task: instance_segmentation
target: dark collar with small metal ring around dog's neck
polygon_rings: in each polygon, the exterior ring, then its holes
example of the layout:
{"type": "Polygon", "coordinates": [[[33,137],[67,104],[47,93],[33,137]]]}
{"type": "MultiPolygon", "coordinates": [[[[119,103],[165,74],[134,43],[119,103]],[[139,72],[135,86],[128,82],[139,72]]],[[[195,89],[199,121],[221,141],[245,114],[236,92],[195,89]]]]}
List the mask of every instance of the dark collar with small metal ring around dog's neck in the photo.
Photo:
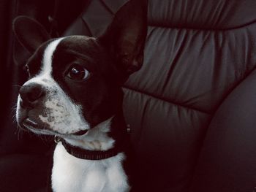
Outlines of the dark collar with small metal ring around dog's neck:
{"type": "Polygon", "coordinates": [[[75,156],[76,158],[82,158],[87,160],[102,160],[105,158],[110,158],[121,152],[120,147],[113,147],[110,150],[86,150],[80,147],[75,147],[67,143],[64,139],[55,136],[55,142],[61,142],[67,153],[75,156]]]}

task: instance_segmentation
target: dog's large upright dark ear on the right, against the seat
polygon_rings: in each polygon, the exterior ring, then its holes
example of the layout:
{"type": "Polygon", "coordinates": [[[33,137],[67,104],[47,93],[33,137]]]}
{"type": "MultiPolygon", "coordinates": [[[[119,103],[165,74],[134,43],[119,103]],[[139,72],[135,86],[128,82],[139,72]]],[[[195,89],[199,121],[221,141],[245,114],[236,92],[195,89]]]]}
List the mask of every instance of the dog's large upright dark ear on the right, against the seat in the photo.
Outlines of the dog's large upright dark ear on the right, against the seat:
{"type": "Polygon", "coordinates": [[[143,64],[147,34],[147,0],[130,0],[118,10],[99,42],[110,50],[124,76],[138,71],[143,64]]]}

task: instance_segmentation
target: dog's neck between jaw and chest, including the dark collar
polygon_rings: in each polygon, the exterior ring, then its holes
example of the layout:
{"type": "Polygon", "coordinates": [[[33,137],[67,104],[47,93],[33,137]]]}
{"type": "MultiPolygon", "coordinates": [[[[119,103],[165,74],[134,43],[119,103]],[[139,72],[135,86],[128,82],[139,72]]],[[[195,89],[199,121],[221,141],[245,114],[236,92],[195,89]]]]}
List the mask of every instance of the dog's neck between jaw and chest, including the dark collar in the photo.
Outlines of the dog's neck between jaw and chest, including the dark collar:
{"type": "Polygon", "coordinates": [[[127,130],[122,115],[115,115],[91,128],[85,135],[60,139],[67,152],[77,158],[104,159],[117,155],[127,143],[127,130]]]}

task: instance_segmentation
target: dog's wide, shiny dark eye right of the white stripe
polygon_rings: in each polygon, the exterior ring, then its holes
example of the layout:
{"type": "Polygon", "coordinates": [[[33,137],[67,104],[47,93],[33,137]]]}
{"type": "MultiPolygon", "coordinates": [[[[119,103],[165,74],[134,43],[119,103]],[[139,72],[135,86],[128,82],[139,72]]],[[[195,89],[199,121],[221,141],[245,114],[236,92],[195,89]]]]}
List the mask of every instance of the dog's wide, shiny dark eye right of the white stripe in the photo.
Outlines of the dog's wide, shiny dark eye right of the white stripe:
{"type": "Polygon", "coordinates": [[[67,77],[72,80],[86,80],[89,77],[89,74],[89,71],[87,71],[83,66],[74,64],[69,68],[67,77]]]}

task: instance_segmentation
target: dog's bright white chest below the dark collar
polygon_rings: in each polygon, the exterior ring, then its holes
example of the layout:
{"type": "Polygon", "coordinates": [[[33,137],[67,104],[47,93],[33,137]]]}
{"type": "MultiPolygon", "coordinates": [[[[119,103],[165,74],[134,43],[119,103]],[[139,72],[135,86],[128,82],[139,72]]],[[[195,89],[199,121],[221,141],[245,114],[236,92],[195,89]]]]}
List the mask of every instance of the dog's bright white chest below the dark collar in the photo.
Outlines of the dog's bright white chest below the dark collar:
{"type": "Polygon", "coordinates": [[[79,159],[69,155],[59,143],[53,155],[53,191],[129,191],[127,175],[121,163],[124,158],[124,153],[118,153],[99,161],[79,159]]]}

